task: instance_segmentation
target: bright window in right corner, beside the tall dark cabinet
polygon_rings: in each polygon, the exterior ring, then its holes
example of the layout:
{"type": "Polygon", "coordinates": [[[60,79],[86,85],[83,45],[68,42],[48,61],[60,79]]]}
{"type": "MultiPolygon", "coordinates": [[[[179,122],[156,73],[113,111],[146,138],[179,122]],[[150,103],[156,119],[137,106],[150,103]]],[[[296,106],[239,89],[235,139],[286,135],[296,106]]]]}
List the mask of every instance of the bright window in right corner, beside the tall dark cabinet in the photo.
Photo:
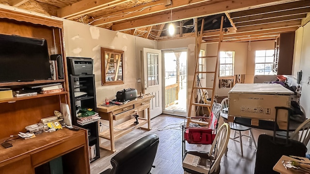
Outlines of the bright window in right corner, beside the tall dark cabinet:
{"type": "Polygon", "coordinates": [[[255,52],[255,75],[272,75],[274,50],[258,50],[255,52]]]}

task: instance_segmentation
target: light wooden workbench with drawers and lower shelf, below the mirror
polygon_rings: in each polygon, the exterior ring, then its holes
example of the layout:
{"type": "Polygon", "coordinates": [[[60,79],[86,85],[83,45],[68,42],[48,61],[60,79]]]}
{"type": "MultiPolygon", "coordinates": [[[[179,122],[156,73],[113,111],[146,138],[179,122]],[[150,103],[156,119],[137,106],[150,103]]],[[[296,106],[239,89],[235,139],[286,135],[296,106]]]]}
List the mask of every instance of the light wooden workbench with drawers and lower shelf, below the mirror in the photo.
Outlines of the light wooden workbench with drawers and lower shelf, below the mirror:
{"type": "Polygon", "coordinates": [[[104,138],[110,141],[110,146],[103,146],[99,141],[99,146],[102,149],[108,150],[110,152],[115,152],[115,139],[125,135],[126,133],[141,128],[144,130],[151,130],[151,117],[150,117],[150,100],[154,98],[154,95],[144,95],[142,98],[138,97],[138,100],[133,100],[127,102],[123,105],[97,105],[97,111],[101,119],[109,120],[109,130],[103,131],[99,133],[100,138],[104,138]],[[147,110],[147,118],[146,118],[146,110],[147,110]],[[134,114],[143,111],[144,117],[139,116],[138,121],[139,124],[136,125],[134,122],[136,118],[131,118],[124,123],[121,123],[114,127],[113,120],[119,120],[121,118],[125,118],[128,116],[132,116],[134,114]],[[141,126],[147,123],[147,128],[142,128],[141,126]]]}

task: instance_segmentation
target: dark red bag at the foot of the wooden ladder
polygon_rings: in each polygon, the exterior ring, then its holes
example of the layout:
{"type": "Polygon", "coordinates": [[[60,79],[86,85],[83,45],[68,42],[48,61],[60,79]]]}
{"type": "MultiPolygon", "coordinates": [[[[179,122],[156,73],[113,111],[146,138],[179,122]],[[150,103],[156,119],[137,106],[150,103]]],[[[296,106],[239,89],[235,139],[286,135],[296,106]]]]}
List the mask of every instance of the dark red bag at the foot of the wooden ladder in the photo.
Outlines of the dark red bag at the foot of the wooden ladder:
{"type": "Polygon", "coordinates": [[[212,129],[205,128],[187,128],[184,138],[189,144],[211,145],[216,136],[212,131],[212,129]]]}

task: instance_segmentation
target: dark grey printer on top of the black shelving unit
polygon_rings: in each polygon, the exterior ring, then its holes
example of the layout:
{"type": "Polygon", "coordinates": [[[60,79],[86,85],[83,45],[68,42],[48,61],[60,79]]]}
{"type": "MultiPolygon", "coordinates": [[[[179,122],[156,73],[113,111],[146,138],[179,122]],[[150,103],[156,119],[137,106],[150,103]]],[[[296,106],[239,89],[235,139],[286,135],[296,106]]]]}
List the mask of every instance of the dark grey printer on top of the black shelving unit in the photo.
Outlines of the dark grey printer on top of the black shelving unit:
{"type": "Polygon", "coordinates": [[[72,75],[93,74],[92,58],[67,57],[68,73],[72,75]]]}

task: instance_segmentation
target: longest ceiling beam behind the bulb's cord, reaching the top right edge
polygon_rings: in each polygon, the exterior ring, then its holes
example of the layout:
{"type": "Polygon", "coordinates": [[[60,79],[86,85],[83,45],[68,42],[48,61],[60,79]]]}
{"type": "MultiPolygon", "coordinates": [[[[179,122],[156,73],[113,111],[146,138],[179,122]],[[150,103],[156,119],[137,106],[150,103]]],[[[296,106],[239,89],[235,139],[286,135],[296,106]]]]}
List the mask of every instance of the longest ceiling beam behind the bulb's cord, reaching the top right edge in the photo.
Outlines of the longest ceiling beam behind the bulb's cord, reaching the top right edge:
{"type": "Polygon", "coordinates": [[[143,19],[132,20],[112,25],[112,30],[122,31],[134,29],[142,26],[158,25],[172,21],[191,19],[224,12],[234,12],[249,8],[258,8],[293,0],[225,0],[213,4],[202,5],[199,7],[187,8],[186,10],[172,12],[172,19],[169,14],[160,14],[143,19]]]}

